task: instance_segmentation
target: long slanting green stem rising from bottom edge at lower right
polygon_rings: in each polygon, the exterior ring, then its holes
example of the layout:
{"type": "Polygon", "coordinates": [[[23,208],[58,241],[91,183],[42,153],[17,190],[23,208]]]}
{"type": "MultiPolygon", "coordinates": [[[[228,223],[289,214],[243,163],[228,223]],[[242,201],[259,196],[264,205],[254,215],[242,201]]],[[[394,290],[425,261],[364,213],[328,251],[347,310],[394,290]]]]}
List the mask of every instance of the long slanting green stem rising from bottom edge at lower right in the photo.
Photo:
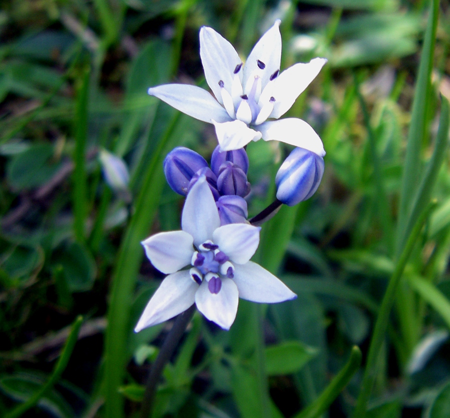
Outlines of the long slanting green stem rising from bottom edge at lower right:
{"type": "Polygon", "coordinates": [[[415,223],[411,234],[406,241],[406,245],[401,252],[398,262],[395,265],[392,276],[389,279],[389,284],[387,285],[386,292],[384,293],[383,299],[381,301],[381,306],[378,311],[378,317],[376,318],[372,339],[370,340],[367,363],[361,383],[361,390],[359,392],[356,407],[352,415],[354,418],[364,418],[365,416],[366,405],[373,386],[373,382],[375,381],[379,353],[381,351],[381,345],[384,341],[384,334],[389,323],[390,309],[395,300],[398,283],[400,282],[404,267],[409,258],[409,255],[411,254],[412,248],[414,247],[422,225],[425,222],[425,219],[427,218],[432,207],[432,204],[428,205],[426,210],[424,210],[417,219],[417,222],[415,223]]]}

